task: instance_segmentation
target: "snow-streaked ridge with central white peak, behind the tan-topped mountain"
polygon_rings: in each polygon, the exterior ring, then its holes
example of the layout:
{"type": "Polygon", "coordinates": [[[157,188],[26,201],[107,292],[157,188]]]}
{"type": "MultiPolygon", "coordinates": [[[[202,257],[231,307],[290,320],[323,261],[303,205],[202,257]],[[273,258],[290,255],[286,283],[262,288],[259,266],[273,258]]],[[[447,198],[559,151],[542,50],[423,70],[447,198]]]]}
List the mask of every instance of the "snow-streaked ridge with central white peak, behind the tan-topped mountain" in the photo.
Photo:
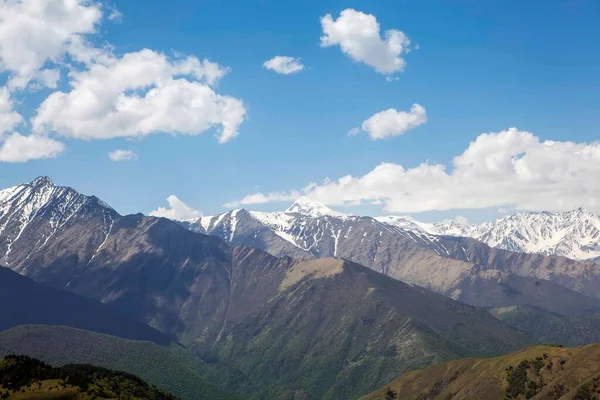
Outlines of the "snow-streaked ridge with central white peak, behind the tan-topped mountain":
{"type": "MultiPolygon", "coordinates": [[[[532,288],[537,280],[549,280],[600,296],[600,266],[595,263],[492,248],[471,238],[433,235],[421,228],[392,225],[389,220],[340,214],[305,199],[284,212],[233,210],[181,224],[277,256],[343,257],[474,305],[490,305],[492,299],[486,299],[485,292],[478,291],[478,296],[469,292],[473,280],[513,279],[507,274],[521,276],[532,288]]],[[[504,300],[498,305],[506,304],[504,300]]]]}

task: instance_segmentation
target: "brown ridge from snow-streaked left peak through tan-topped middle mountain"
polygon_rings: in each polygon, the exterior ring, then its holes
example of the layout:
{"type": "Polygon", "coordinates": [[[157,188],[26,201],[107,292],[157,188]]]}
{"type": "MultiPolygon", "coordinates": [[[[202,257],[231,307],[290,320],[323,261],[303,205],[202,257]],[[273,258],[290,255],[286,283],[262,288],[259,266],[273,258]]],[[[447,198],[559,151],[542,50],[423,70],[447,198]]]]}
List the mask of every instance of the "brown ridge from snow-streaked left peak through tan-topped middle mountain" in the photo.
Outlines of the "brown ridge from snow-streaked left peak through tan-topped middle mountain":
{"type": "MultiPolygon", "coordinates": [[[[0,238],[8,267],[118,307],[281,396],[352,398],[410,368],[525,343],[485,311],[354,263],[232,247],[164,218],[121,216],[48,179],[2,193],[0,238]],[[341,370],[333,373],[331,363],[341,370]],[[310,380],[293,373],[301,370],[310,371],[310,380]],[[355,379],[360,376],[371,379],[355,379]]],[[[239,217],[228,217],[232,241],[241,233],[239,217]]],[[[334,226],[329,216],[316,218],[322,229],[334,226]]],[[[379,224],[360,223],[364,229],[379,224]]],[[[342,236],[326,243],[315,249],[341,255],[342,236]]]]}

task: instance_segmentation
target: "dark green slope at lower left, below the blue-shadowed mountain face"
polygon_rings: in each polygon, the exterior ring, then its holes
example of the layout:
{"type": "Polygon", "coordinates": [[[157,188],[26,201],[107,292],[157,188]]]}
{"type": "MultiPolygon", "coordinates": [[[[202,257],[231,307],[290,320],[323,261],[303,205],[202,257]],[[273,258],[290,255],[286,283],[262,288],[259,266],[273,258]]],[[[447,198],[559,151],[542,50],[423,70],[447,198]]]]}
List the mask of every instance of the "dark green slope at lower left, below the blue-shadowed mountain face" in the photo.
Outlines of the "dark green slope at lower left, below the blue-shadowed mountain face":
{"type": "MultiPolygon", "coordinates": [[[[158,346],[68,327],[25,325],[0,333],[0,356],[26,354],[53,365],[126,371],[182,399],[235,399],[207,381],[211,367],[176,345],[158,346]]],[[[227,382],[223,382],[227,384],[227,382]]]]}

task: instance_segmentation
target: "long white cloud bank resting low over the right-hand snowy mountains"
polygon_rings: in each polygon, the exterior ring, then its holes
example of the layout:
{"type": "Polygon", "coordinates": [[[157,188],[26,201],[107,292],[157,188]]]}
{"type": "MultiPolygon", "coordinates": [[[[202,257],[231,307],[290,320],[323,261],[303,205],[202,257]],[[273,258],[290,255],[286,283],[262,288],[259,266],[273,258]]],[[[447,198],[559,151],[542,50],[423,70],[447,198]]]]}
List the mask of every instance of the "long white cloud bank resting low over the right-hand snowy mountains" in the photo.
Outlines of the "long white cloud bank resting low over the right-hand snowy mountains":
{"type": "MultiPolygon", "coordinates": [[[[380,200],[391,213],[502,207],[600,212],[600,142],[542,141],[516,128],[481,134],[448,168],[382,163],[359,177],[310,184],[301,193],[327,205],[380,200]]],[[[264,203],[294,192],[255,193],[264,203]]]]}

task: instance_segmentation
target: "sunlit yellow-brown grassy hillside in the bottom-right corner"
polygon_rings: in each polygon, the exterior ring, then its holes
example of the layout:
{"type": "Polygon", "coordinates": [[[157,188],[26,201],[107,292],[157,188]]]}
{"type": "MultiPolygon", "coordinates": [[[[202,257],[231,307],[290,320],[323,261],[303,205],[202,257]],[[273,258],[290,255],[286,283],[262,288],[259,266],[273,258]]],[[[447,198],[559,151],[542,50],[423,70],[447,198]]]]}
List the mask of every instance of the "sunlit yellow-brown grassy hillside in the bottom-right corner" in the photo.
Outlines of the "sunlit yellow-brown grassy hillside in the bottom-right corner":
{"type": "Polygon", "coordinates": [[[408,372],[364,399],[524,399],[532,390],[528,396],[536,399],[591,400],[598,398],[593,395],[598,395],[599,380],[600,344],[535,346],[506,356],[408,372]],[[522,379],[517,379],[518,372],[522,379]]]}

